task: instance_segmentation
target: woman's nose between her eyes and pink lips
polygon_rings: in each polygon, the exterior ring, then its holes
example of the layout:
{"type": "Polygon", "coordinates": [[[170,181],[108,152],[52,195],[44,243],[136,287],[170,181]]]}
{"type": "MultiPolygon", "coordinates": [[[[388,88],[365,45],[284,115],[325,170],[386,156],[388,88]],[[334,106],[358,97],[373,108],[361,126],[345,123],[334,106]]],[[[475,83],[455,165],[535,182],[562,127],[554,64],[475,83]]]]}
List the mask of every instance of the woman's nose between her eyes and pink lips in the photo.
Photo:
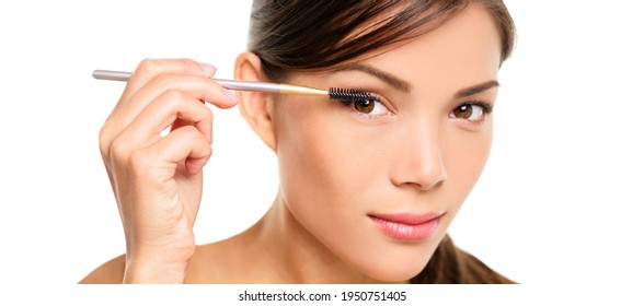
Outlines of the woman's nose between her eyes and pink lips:
{"type": "Polygon", "coordinates": [[[429,129],[425,121],[407,129],[399,139],[399,152],[391,169],[391,180],[395,186],[429,190],[447,179],[438,130],[429,129]]]}

